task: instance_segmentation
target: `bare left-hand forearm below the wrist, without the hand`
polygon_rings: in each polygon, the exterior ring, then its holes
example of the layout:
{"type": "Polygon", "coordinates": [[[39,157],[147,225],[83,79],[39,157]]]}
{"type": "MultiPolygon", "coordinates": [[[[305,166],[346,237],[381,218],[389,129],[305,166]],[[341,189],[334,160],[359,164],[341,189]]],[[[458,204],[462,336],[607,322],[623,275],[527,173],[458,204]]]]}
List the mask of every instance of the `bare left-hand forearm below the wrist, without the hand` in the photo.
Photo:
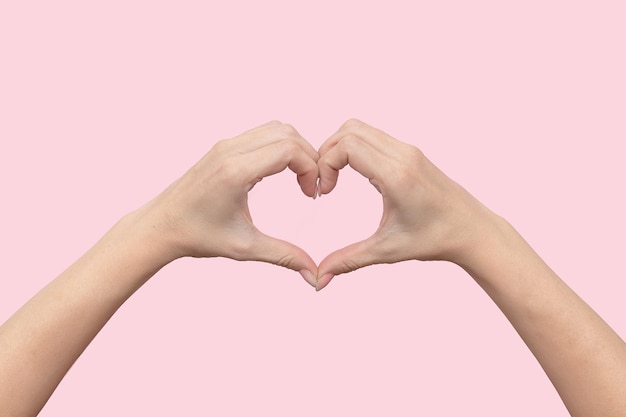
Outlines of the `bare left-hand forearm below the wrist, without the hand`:
{"type": "Polygon", "coordinates": [[[111,318],[167,257],[141,211],[96,245],[0,327],[0,415],[34,416],[111,318]]]}

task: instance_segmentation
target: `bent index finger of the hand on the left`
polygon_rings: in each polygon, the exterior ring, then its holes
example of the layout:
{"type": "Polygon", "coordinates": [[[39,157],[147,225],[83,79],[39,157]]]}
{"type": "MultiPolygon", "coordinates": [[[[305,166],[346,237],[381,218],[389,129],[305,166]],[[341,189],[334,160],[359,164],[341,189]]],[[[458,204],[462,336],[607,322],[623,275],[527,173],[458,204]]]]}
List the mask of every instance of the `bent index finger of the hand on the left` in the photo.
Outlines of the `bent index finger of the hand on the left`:
{"type": "Polygon", "coordinates": [[[318,178],[317,160],[306,153],[295,141],[270,143],[255,152],[243,155],[242,170],[247,171],[250,186],[261,179],[289,167],[297,176],[302,192],[315,196],[318,178]]]}

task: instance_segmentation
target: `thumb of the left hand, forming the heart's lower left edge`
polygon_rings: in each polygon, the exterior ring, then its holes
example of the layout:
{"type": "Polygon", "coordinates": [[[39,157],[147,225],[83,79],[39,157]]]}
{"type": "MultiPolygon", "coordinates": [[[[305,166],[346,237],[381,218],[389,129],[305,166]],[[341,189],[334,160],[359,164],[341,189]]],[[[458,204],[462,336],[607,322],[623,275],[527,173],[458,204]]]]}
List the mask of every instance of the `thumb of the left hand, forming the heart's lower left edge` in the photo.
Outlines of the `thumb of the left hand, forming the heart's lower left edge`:
{"type": "Polygon", "coordinates": [[[315,261],[298,246],[257,232],[252,247],[247,253],[247,260],[268,262],[297,271],[302,277],[316,286],[317,265],[315,261]]]}

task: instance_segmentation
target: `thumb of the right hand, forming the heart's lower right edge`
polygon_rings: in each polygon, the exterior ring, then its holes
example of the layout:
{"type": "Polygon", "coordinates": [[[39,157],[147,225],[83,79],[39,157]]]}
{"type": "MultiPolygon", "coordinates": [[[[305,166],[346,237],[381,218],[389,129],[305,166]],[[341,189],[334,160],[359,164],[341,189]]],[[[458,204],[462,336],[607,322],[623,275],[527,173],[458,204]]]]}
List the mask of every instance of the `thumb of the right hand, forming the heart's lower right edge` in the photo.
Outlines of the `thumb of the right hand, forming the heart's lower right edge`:
{"type": "Polygon", "coordinates": [[[317,285],[320,291],[335,275],[355,271],[364,266],[384,263],[384,253],[377,235],[339,249],[328,255],[317,269],[317,285]]]}

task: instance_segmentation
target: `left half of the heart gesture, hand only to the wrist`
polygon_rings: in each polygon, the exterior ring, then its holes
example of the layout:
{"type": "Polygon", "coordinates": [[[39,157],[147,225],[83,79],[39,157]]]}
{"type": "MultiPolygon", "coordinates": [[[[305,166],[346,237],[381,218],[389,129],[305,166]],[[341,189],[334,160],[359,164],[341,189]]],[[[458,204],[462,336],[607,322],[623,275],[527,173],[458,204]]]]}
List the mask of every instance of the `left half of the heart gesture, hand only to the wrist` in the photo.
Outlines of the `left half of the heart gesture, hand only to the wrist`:
{"type": "Polygon", "coordinates": [[[291,126],[270,122],[217,143],[185,175],[148,204],[169,236],[172,260],[222,256],[299,271],[316,285],[317,266],[299,247],[260,232],[248,192],[289,167],[305,195],[316,196],[318,153],[291,126]]]}

